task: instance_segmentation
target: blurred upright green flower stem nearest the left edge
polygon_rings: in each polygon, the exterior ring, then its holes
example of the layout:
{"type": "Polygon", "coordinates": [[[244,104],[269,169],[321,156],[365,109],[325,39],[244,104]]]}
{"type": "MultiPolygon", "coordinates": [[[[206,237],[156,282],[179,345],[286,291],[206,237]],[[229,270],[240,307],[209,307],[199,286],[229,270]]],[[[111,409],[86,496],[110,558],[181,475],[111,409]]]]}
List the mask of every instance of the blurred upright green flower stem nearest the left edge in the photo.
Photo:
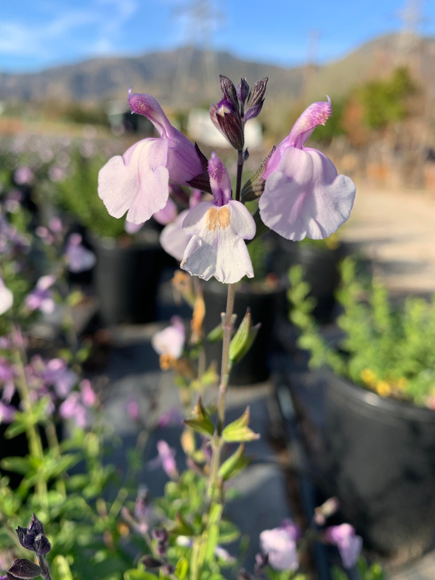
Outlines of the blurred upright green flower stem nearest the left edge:
{"type": "MultiPolygon", "coordinates": [[[[13,350],[13,359],[17,369],[18,376],[16,378],[16,387],[20,395],[21,405],[23,405],[23,411],[27,415],[31,415],[32,402],[28,390],[26,373],[24,372],[23,356],[19,348],[15,348],[13,350]]],[[[37,429],[35,429],[35,425],[33,425],[32,423],[28,423],[27,425],[26,436],[30,455],[33,456],[35,459],[38,459],[38,461],[42,461],[44,459],[44,451],[42,449],[41,437],[39,436],[37,429]]],[[[37,482],[37,491],[41,504],[47,507],[48,506],[47,484],[46,481],[44,481],[43,477],[41,477],[41,479],[37,482]]]]}

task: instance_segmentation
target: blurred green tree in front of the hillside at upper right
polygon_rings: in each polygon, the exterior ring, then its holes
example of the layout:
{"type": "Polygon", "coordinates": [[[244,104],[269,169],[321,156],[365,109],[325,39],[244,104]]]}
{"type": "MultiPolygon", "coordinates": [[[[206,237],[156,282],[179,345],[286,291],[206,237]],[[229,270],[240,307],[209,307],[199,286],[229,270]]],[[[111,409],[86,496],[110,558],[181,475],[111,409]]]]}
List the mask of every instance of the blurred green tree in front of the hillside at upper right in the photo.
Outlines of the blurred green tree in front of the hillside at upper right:
{"type": "Polygon", "coordinates": [[[408,114],[406,100],[414,92],[414,83],[405,67],[396,68],[389,79],[368,82],[359,93],[365,124],[370,129],[382,129],[403,121],[408,114]]]}

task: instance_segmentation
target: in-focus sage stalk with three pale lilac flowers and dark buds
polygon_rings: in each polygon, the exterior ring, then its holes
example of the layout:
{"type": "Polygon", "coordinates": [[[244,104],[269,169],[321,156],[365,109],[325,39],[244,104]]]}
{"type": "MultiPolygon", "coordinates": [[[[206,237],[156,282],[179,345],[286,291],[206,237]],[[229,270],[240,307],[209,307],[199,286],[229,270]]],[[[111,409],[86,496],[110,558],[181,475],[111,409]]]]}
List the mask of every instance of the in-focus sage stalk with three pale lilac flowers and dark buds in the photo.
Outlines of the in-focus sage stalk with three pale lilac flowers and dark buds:
{"type": "MultiPolygon", "coordinates": [[[[257,117],[262,110],[266,86],[267,78],[256,82],[251,89],[246,79],[241,79],[235,88],[229,78],[221,75],[222,99],[210,108],[213,124],[237,151],[234,192],[227,169],[216,153],[213,152],[207,160],[196,143],[191,144],[171,125],[154,97],[132,94],[131,91],[129,104],[132,112],[150,119],[160,137],[144,139],[130,147],[122,157],[111,158],[99,174],[98,193],[110,215],[121,218],[127,212],[127,222],[139,225],[159,212],[172,214],[161,234],[162,246],[191,276],[203,280],[215,277],[228,285],[226,311],[222,313],[222,323],[216,331],[223,340],[216,420],[213,423],[200,398],[192,418],[185,421],[187,426],[205,437],[204,449],[211,452],[200,528],[194,531],[180,516],[172,528],[172,533],[179,538],[192,538],[188,540],[191,580],[201,576],[206,554],[214,553],[210,546],[213,546],[216,534],[219,536],[224,481],[247,465],[244,445],[258,438],[249,429],[249,408],[239,419],[225,425],[225,397],[231,366],[248,351],[258,330],[252,325],[248,311],[233,336],[235,284],[244,276],[254,276],[247,242],[268,229],[288,240],[302,240],[306,236],[315,240],[328,237],[349,218],[356,193],[353,182],[349,177],[338,175],[332,161],[320,151],[305,146],[316,126],[324,124],[331,115],[329,99],[311,104],[302,113],[288,137],[273,148],[255,175],[242,187],[243,165],[248,157],[245,122],[257,117]],[[178,186],[194,189],[189,209],[178,216],[173,212],[169,197],[173,187],[169,180],[178,186]],[[212,198],[203,199],[201,192],[211,193],[212,198]],[[253,215],[245,206],[247,201],[258,201],[258,209],[253,215]],[[222,449],[226,443],[238,443],[239,447],[222,462],[222,449]]],[[[172,197],[176,199],[174,195],[172,197]]],[[[177,277],[180,278],[179,274],[177,277]]],[[[187,287],[185,284],[184,288],[187,287]]],[[[195,288],[197,300],[198,296],[202,299],[200,289],[195,288]]],[[[197,309],[194,299],[190,302],[192,305],[195,303],[194,330],[195,317],[201,322],[204,318],[204,301],[202,310],[197,309]]],[[[203,363],[202,371],[198,368],[195,372],[190,365],[184,364],[184,340],[184,329],[179,320],[173,320],[171,327],[155,336],[154,348],[161,356],[161,366],[175,369],[184,374],[185,379],[190,375],[190,380],[201,382],[206,367],[203,363]]],[[[160,456],[167,447],[163,449],[163,443],[160,442],[160,456]]],[[[165,457],[173,462],[169,451],[165,457]]],[[[160,457],[160,461],[164,459],[160,457]]],[[[266,565],[267,557],[271,562],[285,561],[288,568],[294,569],[297,565],[293,549],[297,539],[295,529],[291,528],[290,534],[289,526],[284,523],[277,530],[263,534],[265,554],[259,556],[258,571],[266,565]],[[293,546],[292,553],[286,554],[284,559],[271,552],[269,540],[271,538],[274,542],[275,535],[288,536],[288,543],[293,546]]],[[[332,539],[331,535],[330,541],[332,539]]],[[[147,542],[150,544],[149,538],[147,542]]],[[[159,556],[155,549],[153,554],[159,556]]]]}

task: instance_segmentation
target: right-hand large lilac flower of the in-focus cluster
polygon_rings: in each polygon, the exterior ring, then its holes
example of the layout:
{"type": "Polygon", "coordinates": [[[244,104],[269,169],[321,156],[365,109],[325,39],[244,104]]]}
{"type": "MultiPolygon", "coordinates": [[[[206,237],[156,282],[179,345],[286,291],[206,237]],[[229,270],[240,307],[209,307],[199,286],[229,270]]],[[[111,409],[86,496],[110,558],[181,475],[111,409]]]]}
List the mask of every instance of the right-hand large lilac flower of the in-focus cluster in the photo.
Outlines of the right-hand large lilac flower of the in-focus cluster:
{"type": "Polygon", "coordinates": [[[304,147],[317,125],[331,115],[331,102],[311,104],[278,145],[263,173],[260,216],[271,230],[287,240],[327,238],[346,222],[356,187],[338,175],[320,151],[304,147]]]}

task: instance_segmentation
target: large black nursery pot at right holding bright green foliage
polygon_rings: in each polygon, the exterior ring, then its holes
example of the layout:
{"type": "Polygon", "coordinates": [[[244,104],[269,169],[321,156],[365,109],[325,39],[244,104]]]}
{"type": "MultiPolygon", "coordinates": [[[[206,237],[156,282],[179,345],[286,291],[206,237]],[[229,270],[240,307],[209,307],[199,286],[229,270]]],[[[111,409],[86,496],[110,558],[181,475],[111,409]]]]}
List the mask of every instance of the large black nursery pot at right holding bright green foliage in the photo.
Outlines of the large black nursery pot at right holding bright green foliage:
{"type": "Polygon", "coordinates": [[[435,412],[324,376],[320,486],[367,548],[420,556],[435,531],[435,412]]]}

